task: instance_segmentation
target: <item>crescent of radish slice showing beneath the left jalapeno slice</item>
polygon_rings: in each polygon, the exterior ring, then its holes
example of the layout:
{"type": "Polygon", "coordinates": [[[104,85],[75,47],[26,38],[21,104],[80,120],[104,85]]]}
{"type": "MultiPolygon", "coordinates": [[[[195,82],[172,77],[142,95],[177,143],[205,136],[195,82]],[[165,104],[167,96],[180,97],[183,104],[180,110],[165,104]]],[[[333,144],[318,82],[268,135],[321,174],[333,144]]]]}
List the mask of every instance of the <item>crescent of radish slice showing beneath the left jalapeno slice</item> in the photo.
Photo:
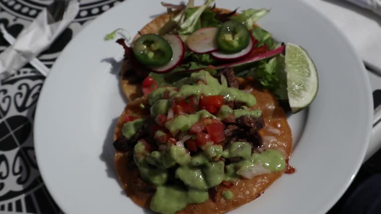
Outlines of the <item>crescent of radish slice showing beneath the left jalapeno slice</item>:
{"type": "Polygon", "coordinates": [[[179,36],[167,34],[164,35],[163,38],[167,40],[171,46],[173,55],[171,61],[167,64],[160,67],[152,67],[151,69],[155,73],[167,73],[183,61],[185,54],[185,45],[179,36]]]}

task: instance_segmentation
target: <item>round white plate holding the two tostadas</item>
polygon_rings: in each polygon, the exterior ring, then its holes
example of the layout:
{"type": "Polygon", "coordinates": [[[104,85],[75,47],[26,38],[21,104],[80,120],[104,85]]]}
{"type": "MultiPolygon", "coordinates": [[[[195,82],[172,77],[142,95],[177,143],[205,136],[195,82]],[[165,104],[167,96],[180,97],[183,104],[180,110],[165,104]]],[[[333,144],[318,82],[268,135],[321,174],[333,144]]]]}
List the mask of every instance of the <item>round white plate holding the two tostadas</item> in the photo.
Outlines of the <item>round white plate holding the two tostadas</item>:
{"type": "MultiPolygon", "coordinates": [[[[217,5],[271,8],[259,24],[278,40],[304,47],[320,83],[311,107],[289,120],[297,142],[291,164],[297,172],[231,213],[326,212],[353,180],[370,137],[372,98],[363,63],[344,35],[302,1],[219,0],[217,5]]],[[[133,36],[164,11],[158,1],[121,3],[70,42],[45,81],[35,149],[45,184],[67,214],[144,213],[115,178],[112,133],[126,103],[118,85],[119,64],[109,62],[123,51],[103,37],[119,27],[133,36]]]]}

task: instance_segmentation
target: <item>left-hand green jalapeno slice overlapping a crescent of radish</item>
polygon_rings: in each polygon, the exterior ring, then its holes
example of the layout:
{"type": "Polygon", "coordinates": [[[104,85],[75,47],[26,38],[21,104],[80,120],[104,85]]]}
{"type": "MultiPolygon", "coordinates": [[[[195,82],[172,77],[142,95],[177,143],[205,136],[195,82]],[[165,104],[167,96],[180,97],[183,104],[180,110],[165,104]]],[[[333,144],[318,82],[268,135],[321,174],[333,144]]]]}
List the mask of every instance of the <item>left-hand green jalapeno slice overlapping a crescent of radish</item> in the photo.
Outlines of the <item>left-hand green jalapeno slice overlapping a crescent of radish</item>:
{"type": "Polygon", "coordinates": [[[145,65],[160,66],[172,59],[172,48],[161,36],[145,34],[133,44],[133,54],[136,59],[145,65]]]}

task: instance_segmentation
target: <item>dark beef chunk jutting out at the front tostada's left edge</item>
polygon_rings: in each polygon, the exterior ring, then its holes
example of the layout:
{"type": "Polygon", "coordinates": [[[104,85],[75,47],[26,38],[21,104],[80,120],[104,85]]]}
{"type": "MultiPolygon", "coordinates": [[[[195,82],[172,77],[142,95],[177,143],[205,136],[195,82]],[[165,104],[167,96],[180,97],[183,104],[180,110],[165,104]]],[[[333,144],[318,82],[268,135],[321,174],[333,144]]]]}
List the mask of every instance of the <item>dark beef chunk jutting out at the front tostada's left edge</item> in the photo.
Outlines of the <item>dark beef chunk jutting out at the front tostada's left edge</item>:
{"type": "Polygon", "coordinates": [[[125,136],[118,138],[113,143],[114,148],[121,152],[131,151],[138,140],[147,137],[147,130],[146,125],[144,125],[140,127],[130,139],[127,139],[125,136]]]}

